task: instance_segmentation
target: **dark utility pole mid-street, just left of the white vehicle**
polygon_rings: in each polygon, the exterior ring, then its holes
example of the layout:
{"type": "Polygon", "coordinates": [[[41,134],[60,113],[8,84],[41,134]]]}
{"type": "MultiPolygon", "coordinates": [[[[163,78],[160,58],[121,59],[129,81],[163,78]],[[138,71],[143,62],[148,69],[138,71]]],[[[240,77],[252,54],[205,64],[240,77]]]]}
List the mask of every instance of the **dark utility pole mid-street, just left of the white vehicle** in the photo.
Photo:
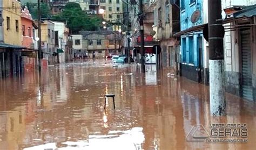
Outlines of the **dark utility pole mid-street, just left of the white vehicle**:
{"type": "Polygon", "coordinates": [[[140,27],[140,65],[142,73],[145,73],[145,49],[144,49],[144,24],[143,24],[143,4],[142,0],[139,0],[139,27],[140,27]]]}

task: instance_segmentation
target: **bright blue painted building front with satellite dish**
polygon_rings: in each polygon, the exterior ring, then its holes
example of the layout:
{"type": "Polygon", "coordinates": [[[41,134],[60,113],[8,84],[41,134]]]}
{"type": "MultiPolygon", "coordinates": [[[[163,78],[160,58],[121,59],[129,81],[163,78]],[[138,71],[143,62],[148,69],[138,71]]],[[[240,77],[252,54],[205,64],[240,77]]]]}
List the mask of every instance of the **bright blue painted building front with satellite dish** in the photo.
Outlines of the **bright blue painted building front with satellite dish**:
{"type": "MultiPolygon", "coordinates": [[[[201,24],[203,24],[203,0],[180,0],[181,32],[201,24]],[[194,12],[196,15],[193,15],[194,12]]],[[[203,32],[181,35],[180,43],[181,76],[196,82],[203,82],[203,32]]]]}

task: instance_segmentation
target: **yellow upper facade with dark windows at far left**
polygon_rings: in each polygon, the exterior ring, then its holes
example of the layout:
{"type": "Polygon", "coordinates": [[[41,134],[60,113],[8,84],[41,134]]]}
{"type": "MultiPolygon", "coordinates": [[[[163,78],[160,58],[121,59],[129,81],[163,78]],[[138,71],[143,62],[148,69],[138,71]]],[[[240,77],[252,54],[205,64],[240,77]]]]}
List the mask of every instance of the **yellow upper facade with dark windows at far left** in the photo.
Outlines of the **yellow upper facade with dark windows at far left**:
{"type": "Polygon", "coordinates": [[[3,41],[5,44],[22,45],[21,3],[16,0],[3,2],[3,41]]]}

